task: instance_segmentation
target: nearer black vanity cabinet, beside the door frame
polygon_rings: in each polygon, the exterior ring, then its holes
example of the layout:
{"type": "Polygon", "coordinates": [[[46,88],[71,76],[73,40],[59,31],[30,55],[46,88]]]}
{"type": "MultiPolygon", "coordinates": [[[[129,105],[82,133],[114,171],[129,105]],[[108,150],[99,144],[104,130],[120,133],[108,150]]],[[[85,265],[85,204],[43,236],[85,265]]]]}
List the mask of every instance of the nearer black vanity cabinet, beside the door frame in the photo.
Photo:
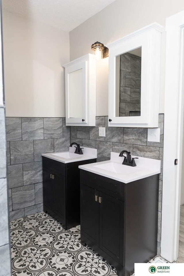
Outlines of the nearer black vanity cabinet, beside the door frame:
{"type": "Polygon", "coordinates": [[[81,243],[129,276],[157,254],[158,175],[125,184],[80,171],[81,243]]]}

